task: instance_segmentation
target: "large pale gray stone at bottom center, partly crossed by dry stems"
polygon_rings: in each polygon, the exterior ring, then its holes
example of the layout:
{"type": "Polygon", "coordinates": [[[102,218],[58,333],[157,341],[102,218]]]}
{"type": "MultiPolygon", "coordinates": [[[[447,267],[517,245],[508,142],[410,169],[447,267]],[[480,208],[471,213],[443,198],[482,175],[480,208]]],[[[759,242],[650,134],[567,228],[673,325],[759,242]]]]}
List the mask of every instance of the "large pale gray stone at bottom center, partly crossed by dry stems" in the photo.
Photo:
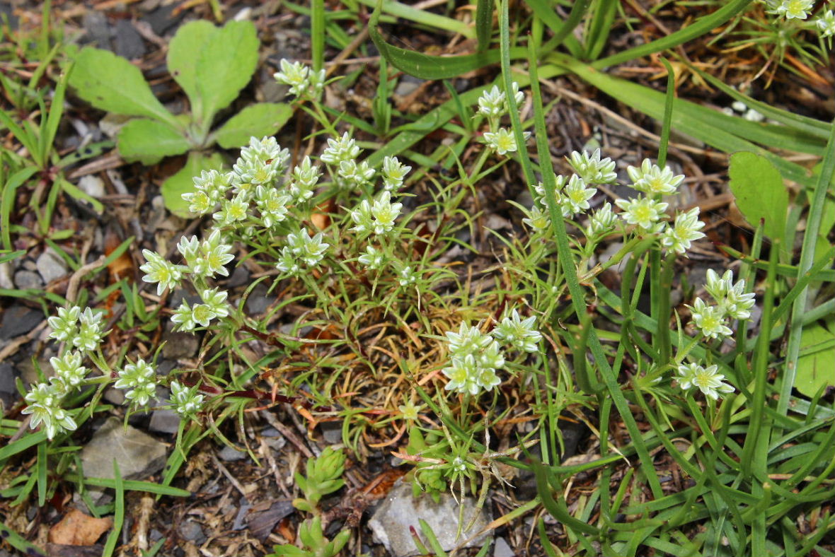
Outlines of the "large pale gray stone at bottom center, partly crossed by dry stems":
{"type": "MultiPolygon", "coordinates": [[[[374,533],[374,539],[385,545],[389,554],[409,557],[419,554],[409,527],[412,526],[420,532],[418,519],[424,519],[433,529],[443,550],[450,551],[489,524],[486,510],[475,508],[475,499],[466,497],[463,504],[464,525],[473,519],[473,513],[478,515],[473,526],[462,532],[460,538],[455,539],[458,531],[458,503],[452,495],[441,494],[438,504],[429,496],[415,499],[412,496],[412,486],[398,480],[388,492],[387,498],[377,507],[368,521],[368,526],[374,533]]],[[[480,547],[486,537],[486,534],[478,536],[464,547],[480,547]]]]}

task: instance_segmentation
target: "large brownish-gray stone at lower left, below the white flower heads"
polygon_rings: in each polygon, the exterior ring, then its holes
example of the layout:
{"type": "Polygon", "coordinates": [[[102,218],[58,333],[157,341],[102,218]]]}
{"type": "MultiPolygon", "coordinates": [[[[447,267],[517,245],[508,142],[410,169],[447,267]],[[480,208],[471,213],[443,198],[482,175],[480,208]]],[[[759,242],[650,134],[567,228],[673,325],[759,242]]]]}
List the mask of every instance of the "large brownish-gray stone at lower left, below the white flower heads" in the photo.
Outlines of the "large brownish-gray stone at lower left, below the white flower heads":
{"type": "Polygon", "coordinates": [[[84,475],[113,478],[113,459],[124,479],[147,478],[165,464],[165,444],[128,426],[122,420],[108,418],[81,451],[84,475]]]}

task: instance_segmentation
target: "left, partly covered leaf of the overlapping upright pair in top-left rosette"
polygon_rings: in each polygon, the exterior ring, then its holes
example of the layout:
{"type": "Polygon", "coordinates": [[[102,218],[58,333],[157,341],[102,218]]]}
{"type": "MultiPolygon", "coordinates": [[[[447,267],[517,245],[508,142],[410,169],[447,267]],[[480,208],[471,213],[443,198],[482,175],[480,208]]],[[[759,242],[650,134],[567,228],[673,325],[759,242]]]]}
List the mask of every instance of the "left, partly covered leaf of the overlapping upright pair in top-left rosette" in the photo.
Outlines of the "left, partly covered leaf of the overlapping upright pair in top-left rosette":
{"type": "Polygon", "coordinates": [[[218,28],[205,19],[186,23],[177,29],[177,33],[169,44],[168,56],[165,58],[171,77],[188,95],[191,112],[195,114],[199,114],[202,110],[200,92],[197,88],[197,60],[200,59],[200,53],[203,52],[205,44],[217,32],[218,28]]]}

